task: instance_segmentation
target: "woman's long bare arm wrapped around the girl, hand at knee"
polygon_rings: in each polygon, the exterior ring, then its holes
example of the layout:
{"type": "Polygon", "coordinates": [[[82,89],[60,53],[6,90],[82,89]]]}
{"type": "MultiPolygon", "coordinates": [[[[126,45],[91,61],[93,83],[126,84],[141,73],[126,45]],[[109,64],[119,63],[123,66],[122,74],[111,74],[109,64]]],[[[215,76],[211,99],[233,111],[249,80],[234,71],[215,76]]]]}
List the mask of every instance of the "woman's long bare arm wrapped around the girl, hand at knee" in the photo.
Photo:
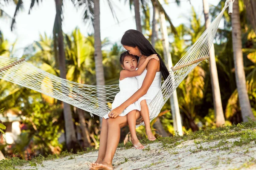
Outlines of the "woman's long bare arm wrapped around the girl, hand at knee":
{"type": "Polygon", "coordinates": [[[119,107],[113,109],[108,115],[109,117],[116,118],[119,114],[121,114],[125,108],[127,108],[132,103],[136,102],[140,97],[144,96],[150,85],[152,84],[154,77],[157,73],[157,68],[159,65],[159,61],[155,59],[151,59],[150,62],[148,62],[148,71],[146,74],[145,79],[143,80],[141,88],[136,91],[129,99],[127,99],[125,102],[122,103],[119,107]]]}

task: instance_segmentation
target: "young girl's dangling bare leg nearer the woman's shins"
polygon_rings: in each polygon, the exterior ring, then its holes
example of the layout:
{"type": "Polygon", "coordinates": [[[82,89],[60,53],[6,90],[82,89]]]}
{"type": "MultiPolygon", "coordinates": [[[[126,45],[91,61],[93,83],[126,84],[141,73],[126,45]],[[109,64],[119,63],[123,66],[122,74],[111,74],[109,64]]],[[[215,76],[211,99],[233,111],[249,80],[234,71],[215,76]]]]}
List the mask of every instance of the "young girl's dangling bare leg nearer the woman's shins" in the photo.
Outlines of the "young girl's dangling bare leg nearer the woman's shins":
{"type": "Polygon", "coordinates": [[[144,149],[145,147],[140,143],[136,135],[136,112],[139,111],[133,110],[127,114],[127,121],[131,132],[131,142],[136,149],[144,149]]]}

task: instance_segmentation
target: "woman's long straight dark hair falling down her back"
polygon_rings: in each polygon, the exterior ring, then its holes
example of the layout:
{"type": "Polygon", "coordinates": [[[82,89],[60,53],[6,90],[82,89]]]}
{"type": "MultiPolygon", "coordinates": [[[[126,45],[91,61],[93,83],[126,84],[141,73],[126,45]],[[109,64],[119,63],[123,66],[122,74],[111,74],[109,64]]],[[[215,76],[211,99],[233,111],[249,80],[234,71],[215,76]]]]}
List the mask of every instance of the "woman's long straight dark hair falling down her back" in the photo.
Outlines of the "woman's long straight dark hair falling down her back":
{"type": "Polygon", "coordinates": [[[160,57],[157,51],[155,51],[151,43],[144,37],[144,35],[140,31],[134,29],[129,29],[128,31],[125,31],[125,34],[122,36],[121,44],[134,48],[137,46],[141,54],[145,56],[157,54],[160,60],[160,70],[162,72],[163,79],[167,79],[167,77],[169,76],[169,71],[164,64],[163,59],[160,57]]]}

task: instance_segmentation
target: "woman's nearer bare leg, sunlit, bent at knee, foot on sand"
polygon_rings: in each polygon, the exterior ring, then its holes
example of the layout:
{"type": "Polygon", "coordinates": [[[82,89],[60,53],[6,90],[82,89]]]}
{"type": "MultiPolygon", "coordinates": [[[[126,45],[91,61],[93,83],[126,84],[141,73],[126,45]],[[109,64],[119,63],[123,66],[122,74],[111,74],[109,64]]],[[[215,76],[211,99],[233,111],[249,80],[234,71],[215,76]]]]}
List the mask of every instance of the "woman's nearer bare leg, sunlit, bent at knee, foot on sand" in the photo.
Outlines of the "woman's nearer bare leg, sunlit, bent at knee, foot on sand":
{"type": "MultiPolygon", "coordinates": [[[[140,112],[136,112],[136,118],[140,117],[140,112]]],[[[128,125],[127,116],[117,116],[108,119],[108,142],[105,158],[101,163],[93,164],[93,170],[113,170],[112,161],[120,139],[120,129],[128,125]]]]}

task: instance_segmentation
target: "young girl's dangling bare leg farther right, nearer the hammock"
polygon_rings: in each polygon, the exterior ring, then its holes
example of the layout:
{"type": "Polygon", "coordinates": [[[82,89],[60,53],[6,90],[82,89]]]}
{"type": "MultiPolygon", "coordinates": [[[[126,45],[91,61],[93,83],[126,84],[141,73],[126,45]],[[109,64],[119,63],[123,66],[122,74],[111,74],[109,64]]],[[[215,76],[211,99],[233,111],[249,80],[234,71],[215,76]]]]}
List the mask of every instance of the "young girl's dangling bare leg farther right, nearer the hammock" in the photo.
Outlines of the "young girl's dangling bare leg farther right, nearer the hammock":
{"type": "Polygon", "coordinates": [[[148,139],[150,141],[154,141],[154,140],[156,140],[156,138],[154,137],[154,135],[151,131],[150,120],[149,120],[149,111],[148,111],[148,105],[146,103],[146,100],[143,100],[140,102],[140,107],[141,107],[140,114],[141,114],[144,124],[145,124],[145,129],[146,129],[146,134],[148,136],[148,139]]]}

